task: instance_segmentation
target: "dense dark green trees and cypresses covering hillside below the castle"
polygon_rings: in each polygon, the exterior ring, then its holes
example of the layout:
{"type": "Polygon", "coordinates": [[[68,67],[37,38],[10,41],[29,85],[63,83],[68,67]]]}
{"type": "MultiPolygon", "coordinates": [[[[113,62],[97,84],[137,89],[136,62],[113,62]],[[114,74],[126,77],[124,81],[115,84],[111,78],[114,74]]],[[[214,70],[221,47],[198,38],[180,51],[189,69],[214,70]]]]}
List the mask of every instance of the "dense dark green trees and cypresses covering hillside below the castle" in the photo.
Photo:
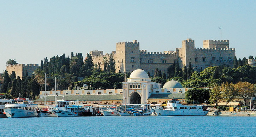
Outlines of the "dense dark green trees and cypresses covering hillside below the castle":
{"type": "MultiPolygon", "coordinates": [[[[249,59],[254,58],[249,56],[249,59]]],[[[104,65],[103,68],[98,64],[93,64],[91,54],[87,54],[84,59],[82,53],[74,55],[73,52],[71,53],[71,58],[66,57],[65,54],[53,56],[50,58],[50,61],[44,58],[44,60],[41,60],[40,67],[34,71],[32,77],[28,77],[26,72],[26,75],[21,80],[19,77],[15,77],[16,74],[14,71],[10,76],[5,71],[1,92],[10,94],[13,98],[17,97],[20,93],[23,97],[35,99],[39,95],[40,90],[44,90],[44,73],[46,73],[47,77],[46,90],[52,90],[54,88],[54,78],[56,78],[56,90],[74,90],[77,87],[82,87],[83,84],[89,85],[89,89],[121,89],[122,82],[125,81],[125,74],[115,73],[113,55],[110,54],[109,58],[104,57],[102,62],[104,65]],[[83,80],[78,81],[80,78],[83,78],[83,80]]],[[[8,60],[6,63],[7,65],[17,64],[15,60],[8,60]]],[[[167,81],[173,79],[180,82],[184,88],[216,88],[216,86],[221,86],[223,83],[236,84],[241,81],[255,84],[256,67],[247,64],[248,59],[243,58],[237,60],[235,56],[233,68],[222,65],[208,67],[202,72],[197,72],[192,69],[190,62],[188,66],[184,66],[183,68],[180,68],[177,63],[170,65],[167,68],[167,73],[162,73],[161,70],[156,68],[155,75],[151,77],[151,81],[165,84],[167,81]]],[[[127,77],[129,75],[130,73],[127,74],[127,77]]],[[[199,94],[197,96],[202,97],[200,93],[203,93],[203,96],[208,98],[206,100],[210,100],[214,95],[218,95],[218,93],[213,93],[212,91],[214,90],[198,90],[194,94],[199,94]]],[[[200,102],[204,100],[194,99],[195,96],[187,95],[190,100],[200,100],[200,102]]],[[[215,103],[213,99],[211,102],[215,103]]]]}

